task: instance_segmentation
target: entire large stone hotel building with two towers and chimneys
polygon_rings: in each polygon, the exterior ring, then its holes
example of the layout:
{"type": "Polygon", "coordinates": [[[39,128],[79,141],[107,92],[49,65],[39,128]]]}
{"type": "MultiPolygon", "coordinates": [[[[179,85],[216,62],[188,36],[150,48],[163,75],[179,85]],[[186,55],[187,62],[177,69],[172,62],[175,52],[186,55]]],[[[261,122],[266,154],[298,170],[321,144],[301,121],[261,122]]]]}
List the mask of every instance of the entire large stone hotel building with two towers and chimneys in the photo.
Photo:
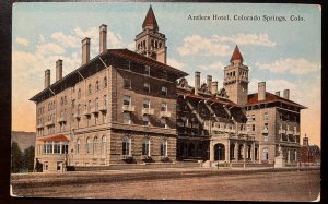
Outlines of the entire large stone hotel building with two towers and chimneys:
{"type": "Polygon", "coordinates": [[[99,27],[101,53],[90,59],[82,40],[82,64],[56,83],[45,72],[36,103],[36,152],[44,171],[66,166],[210,160],[269,163],[282,147],[285,161],[300,155],[300,113],[305,108],[284,96],[248,94],[248,68],[236,46],[224,68],[223,88],[207,76],[195,87],[187,73],[166,64],[165,35],[150,8],[136,51],[106,49],[106,25],[99,27]],[[180,79],[178,81],[178,79],[180,79]]]}

